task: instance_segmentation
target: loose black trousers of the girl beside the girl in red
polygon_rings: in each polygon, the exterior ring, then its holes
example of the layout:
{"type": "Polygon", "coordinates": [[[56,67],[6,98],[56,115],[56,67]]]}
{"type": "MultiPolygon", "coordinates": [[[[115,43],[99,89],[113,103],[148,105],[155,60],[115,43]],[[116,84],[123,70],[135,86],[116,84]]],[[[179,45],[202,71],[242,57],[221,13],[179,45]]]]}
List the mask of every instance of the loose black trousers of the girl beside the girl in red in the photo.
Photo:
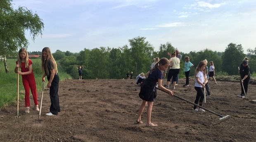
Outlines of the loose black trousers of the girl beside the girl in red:
{"type": "MultiPolygon", "coordinates": [[[[50,76],[47,76],[47,80],[48,81],[50,80],[50,76]]],[[[55,115],[58,115],[58,112],[60,112],[58,92],[59,92],[59,76],[55,75],[50,87],[50,99],[51,99],[50,112],[55,115]]]]}

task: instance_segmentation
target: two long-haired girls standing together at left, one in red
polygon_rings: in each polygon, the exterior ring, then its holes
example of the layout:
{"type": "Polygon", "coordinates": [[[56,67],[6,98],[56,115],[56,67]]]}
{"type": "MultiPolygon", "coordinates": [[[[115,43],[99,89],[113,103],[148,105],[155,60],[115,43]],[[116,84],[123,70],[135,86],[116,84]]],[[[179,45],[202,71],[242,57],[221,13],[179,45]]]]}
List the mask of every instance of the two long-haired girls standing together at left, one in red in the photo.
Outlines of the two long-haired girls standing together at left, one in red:
{"type": "MultiPolygon", "coordinates": [[[[47,88],[50,88],[50,112],[45,114],[47,116],[57,116],[60,112],[59,107],[59,76],[57,70],[57,64],[55,59],[52,56],[49,47],[44,47],[42,50],[41,57],[41,69],[44,73],[42,76],[42,82],[45,82],[45,77],[47,77],[48,83],[47,88]]],[[[32,69],[32,61],[28,59],[28,52],[26,48],[21,48],[19,50],[19,57],[16,61],[16,67],[14,69],[15,73],[19,73],[22,76],[22,83],[25,89],[25,113],[29,113],[30,101],[29,101],[29,90],[33,95],[34,100],[34,109],[39,111],[38,108],[38,99],[37,99],[37,90],[36,90],[36,81],[32,69]],[[19,71],[21,68],[21,71],[19,71]]],[[[19,101],[19,100],[17,100],[19,101]]],[[[42,103],[42,102],[41,102],[42,103]]]]}

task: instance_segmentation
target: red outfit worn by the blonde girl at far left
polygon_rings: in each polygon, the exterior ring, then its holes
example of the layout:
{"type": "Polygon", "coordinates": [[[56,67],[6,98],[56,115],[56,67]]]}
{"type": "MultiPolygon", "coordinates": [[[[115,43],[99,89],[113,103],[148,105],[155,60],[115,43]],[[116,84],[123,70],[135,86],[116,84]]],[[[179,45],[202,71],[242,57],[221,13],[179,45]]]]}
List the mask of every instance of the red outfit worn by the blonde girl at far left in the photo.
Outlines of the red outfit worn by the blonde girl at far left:
{"type": "MultiPolygon", "coordinates": [[[[17,63],[18,62],[16,61],[16,64],[17,63]]],[[[31,64],[33,64],[31,59],[28,59],[28,66],[30,66],[31,64]]],[[[21,62],[21,72],[27,72],[27,71],[28,71],[28,68],[25,68],[25,62],[24,63],[21,62]]],[[[31,93],[33,95],[33,100],[34,100],[35,105],[38,105],[36,80],[35,80],[33,70],[31,72],[31,74],[22,75],[22,83],[23,83],[24,89],[25,89],[25,107],[30,106],[29,89],[31,89],[31,93]]]]}

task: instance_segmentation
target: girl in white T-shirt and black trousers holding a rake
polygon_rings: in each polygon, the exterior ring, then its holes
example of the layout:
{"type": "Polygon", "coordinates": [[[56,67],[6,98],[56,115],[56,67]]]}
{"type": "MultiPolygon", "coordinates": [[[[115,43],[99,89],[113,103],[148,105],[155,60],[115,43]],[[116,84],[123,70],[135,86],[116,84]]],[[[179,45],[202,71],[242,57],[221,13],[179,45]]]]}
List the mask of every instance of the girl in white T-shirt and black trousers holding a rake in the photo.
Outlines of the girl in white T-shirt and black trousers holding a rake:
{"type": "MultiPolygon", "coordinates": [[[[194,89],[197,91],[197,97],[194,101],[195,104],[198,104],[199,106],[202,106],[202,103],[204,101],[204,91],[203,88],[205,87],[205,83],[207,83],[206,78],[206,62],[201,61],[199,62],[197,69],[194,73],[195,83],[194,83],[194,89]]],[[[205,112],[204,109],[200,108],[197,109],[197,106],[194,105],[194,108],[192,109],[192,112],[205,112]]]]}

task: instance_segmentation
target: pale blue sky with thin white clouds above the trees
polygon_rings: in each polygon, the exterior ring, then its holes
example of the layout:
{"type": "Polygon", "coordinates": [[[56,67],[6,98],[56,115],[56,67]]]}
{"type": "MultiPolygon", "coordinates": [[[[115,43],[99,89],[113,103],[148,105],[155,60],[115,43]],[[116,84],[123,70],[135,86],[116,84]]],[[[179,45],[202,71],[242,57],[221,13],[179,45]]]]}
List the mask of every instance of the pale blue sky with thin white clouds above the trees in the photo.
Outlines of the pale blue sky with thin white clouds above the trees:
{"type": "Polygon", "coordinates": [[[180,52],[224,52],[230,43],[244,53],[256,47],[256,0],[13,0],[38,14],[43,36],[28,51],[118,48],[145,37],[155,51],[167,42],[180,52]]]}

